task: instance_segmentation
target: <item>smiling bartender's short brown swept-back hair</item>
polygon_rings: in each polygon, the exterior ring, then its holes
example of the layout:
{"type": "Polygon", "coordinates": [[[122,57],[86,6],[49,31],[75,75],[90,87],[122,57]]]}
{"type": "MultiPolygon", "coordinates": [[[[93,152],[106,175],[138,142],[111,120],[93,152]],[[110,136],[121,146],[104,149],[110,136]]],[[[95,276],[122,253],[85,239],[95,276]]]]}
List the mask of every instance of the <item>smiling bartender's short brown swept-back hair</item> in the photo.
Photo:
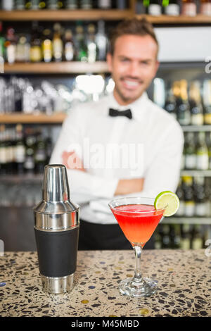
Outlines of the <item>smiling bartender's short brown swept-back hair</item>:
{"type": "Polygon", "coordinates": [[[155,40],[155,43],[158,45],[158,39],[156,38],[155,32],[153,30],[153,25],[148,20],[146,20],[146,18],[141,18],[141,20],[139,20],[138,18],[132,18],[123,20],[112,31],[109,45],[110,54],[114,53],[115,42],[117,38],[123,35],[149,35],[153,38],[153,40],[155,40]]]}

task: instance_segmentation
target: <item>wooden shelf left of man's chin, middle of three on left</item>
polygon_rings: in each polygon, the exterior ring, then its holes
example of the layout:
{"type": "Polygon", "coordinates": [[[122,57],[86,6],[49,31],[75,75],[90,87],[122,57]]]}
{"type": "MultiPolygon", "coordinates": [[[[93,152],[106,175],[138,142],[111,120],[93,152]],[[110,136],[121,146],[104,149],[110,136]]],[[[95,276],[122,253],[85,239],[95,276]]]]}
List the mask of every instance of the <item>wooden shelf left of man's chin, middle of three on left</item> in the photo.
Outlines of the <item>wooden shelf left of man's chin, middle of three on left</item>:
{"type": "Polygon", "coordinates": [[[51,63],[5,63],[4,73],[108,73],[108,65],[104,61],[96,61],[95,63],[87,63],[80,61],[51,63]]]}

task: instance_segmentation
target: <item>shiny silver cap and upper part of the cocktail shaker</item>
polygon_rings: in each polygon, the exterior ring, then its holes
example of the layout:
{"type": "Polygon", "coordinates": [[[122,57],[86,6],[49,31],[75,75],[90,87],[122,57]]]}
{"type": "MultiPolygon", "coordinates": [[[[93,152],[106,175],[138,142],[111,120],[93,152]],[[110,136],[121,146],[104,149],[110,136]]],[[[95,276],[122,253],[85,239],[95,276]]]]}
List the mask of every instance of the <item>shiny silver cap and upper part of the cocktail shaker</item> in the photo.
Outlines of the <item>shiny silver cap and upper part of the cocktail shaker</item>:
{"type": "Polygon", "coordinates": [[[64,231],[78,225],[79,206],[70,201],[65,165],[46,165],[42,201],[34,207],[34,227],[42,231],[64,231]]]}

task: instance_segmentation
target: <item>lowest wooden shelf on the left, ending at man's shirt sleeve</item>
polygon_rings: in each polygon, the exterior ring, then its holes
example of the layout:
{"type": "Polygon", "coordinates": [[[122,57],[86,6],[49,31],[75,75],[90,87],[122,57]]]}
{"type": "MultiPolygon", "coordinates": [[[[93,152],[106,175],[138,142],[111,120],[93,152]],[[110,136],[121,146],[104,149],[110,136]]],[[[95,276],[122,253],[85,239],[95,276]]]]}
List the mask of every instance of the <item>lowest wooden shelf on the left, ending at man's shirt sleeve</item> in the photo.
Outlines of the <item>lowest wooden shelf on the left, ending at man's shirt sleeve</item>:
{"type": "Polygon", "coordinates": [[[0,115],[0,123],[15,124],[15,123],[40,123],[40,124],[61,124],[65,120],[66,113],[55,113],[53,115],[45,114],[23,114],[11,113],[0,115]]]}

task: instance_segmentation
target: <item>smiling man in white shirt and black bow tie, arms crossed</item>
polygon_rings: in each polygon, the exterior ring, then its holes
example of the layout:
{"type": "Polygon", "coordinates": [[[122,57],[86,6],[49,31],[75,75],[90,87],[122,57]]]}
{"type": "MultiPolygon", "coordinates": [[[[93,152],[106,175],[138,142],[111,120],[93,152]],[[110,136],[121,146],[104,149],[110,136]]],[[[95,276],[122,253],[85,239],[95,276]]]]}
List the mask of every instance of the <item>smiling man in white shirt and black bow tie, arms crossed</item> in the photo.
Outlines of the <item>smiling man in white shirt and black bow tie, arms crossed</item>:
{"type": "MultiPolygon", "coordinates": [[[[113,93],[79,104],[63,123],[50,163],[65,164],[81,206],[79,249],[130,249],[108,202],[177,189],[184,137],[146,94],[158,70],[151,23],[124,20],[113,31],[107,63],[113,93]]],[[[77,202],[76,201],[76,202],[77,202]]],[[[153,248],[151,240],[146,248],[153,248]]]]}

